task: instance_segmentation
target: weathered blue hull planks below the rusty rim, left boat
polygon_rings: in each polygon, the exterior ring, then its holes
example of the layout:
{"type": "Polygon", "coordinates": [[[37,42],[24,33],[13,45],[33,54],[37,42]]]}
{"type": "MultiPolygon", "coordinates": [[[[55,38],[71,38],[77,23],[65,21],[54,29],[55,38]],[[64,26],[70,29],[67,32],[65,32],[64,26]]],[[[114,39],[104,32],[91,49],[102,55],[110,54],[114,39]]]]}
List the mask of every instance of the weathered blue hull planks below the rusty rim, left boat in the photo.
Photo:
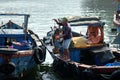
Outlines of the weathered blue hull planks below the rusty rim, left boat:
{"type": "MultiPolygon", "coordinates": [[[[13,63],[15,67],[15,70],[10,75],[18,78],[23,77],[24,75],[22,74],[24,74],[24,72],[32,69],[33,67],[35,67],[35,65],[37,65],[34,61],[33,56],[23,56],[19,58],[18,57],[12,58],[10,62],[13,63]]],[[[2,58],[0,58],[0,63],[2,63],[2,58]]],[[[4,75],[4,73],[1,73],[1,76],[7,77],[6,75],[4,75]]]]}

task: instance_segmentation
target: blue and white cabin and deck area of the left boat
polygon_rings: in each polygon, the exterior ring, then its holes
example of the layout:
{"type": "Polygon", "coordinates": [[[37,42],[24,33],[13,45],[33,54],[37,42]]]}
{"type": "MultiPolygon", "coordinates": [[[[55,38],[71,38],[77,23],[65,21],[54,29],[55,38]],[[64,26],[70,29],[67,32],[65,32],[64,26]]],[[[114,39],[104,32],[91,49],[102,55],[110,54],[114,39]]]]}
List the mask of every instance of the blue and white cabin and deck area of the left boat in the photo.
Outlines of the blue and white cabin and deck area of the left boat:
{"type": "MultiPolygon", "coordinates": [[[[5,14],[0,14],[5,15],[5,14]]],[[[12,14],[10,14],[12,15],[12,14]]],[[[15,15],[15,14],[14,14],[15,15]]],[[[23,16],[16,14],[16,16],[23,16]]],[[[29,15],[25,15],[25,20],[29,15]]],[[[11,48],[18,50],[29,50],[32,48],[32,38],[27,31],[27,21],[24,22],[24,25],[20,26],[16,23],[13,23],[12,20],[9,20],[7,23],[0,26],[0,48],[11,48]]]]}

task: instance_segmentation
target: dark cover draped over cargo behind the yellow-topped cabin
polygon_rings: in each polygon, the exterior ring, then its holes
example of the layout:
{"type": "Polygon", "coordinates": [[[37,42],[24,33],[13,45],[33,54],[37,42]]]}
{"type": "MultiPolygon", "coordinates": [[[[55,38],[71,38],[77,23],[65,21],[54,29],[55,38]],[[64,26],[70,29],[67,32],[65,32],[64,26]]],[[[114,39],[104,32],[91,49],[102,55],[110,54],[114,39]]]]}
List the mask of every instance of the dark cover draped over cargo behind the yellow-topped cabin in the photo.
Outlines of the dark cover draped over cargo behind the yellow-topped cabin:
{"type": "Polygon", "coordinates": [[[108,47],[102,47],[91,51],[94,53],[96,65],[105,65],[115,58],[108,47]]]}

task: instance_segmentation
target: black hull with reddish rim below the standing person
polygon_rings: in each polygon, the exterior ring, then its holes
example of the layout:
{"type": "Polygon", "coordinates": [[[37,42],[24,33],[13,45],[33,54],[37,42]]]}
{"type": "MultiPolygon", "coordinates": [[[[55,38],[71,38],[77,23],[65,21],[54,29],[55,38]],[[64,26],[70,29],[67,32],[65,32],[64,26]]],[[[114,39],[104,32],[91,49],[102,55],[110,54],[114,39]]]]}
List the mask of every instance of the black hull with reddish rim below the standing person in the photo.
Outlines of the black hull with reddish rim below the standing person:
{"type": "Polygon", "coordinates": [[[110,80],[111,74],[119,69],[120,67],[97,67],[72,61],[66,62],[58,57],[55,57],[53,62],[53,70],[56,73],[74,80],[110,80]]]}

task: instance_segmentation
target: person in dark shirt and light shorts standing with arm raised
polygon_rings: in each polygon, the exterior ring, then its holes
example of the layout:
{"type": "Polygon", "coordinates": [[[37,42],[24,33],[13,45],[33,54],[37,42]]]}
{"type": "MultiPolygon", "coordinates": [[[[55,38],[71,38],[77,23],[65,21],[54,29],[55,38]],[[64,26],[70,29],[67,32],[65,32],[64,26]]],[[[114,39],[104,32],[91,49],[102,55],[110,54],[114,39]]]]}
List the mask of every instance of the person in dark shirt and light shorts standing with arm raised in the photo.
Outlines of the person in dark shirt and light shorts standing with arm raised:
{"type": "Polygon", "coordinates": [[[62,31],[63,35],[60,37],[63,37],[63,43],[62,47],[64,48],[64,54],[65,54],[65,60],[69,60],[69,45],[72,40],[72,31],[71,27],[68,24],[67,18],[63,18],[62,22],[59,23],[56,19],[53,19],[58,25],[63,26],[62,31]]]}

